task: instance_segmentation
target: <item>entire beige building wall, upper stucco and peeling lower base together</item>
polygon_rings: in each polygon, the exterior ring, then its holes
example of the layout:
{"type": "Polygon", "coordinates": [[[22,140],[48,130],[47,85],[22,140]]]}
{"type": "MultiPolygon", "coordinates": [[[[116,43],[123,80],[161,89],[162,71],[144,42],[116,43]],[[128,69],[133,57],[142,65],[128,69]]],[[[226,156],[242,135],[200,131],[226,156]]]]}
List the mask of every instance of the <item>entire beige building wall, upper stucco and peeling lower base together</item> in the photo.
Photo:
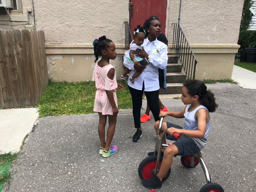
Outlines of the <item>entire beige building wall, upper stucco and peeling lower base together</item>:
{"type": "MultiPolygon", "coordinates": [[[[129,21],[128,1],[34,1],[36,29],[44,30],[49,78],[54,81],[92,79],[95,65],[92,41],[106,35],[116,44],[118,57],[111,61],[117,76],[123,72],[124,22],[129,21]],[[69,3],[69,2],[68,2],[69,3]],[[83,44],[83,45],[81,45],[83,44]]],[[[22,0],[27,22],[0,21],[0,29],[34,25],[33,6],[22,0]]],[[[168,1],[167,36],[172,44],[172,23],[178,22],[180,0],[168,1]]],[[[182,0],[180,25],[198,64],[196,78],[231,78],[243,0],[182,0]],[[200,47],[201,46],[201,47],[200,47]],[[235,46],[235,47],[234,47],[235,46]]],[[[1,20],[1,19],[0,19],[1,20]]],[[[170,50],[169,50],[170,51],[170,50]]]]}

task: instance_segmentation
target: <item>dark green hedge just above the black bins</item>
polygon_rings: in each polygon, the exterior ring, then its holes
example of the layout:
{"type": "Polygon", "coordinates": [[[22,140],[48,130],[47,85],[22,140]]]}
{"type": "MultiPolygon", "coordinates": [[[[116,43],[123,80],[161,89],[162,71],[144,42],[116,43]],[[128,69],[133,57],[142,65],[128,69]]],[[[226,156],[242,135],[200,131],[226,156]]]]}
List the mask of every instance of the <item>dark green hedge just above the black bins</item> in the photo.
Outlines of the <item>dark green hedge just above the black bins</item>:
{"type": "Polygon", "coordinates": [[[238,52],[243,51],[245,48],[256,48],[256,30],[240,31],[238,43],[241,45],[238,52]]]}

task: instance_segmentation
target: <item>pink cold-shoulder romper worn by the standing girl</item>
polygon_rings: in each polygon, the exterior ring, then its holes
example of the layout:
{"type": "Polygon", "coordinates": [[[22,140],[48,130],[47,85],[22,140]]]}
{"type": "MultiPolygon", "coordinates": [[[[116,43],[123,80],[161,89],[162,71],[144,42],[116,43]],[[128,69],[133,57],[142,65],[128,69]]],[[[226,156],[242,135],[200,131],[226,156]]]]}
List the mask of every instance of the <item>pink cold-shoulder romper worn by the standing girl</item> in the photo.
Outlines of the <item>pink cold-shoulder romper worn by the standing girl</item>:
{"type": "Polygon", "coordinates": [[[113,91],[116,107],[118,107],[116,98],[116,71],[113,80],[109,79],[107,76],[108,71],[111,68],[114,68],[111,64],[100,67],[98,66],[98,63],[96,63],[92,76],[92,81],[95,81],[95,86],[97,88],[93,111],[100,112],[102,115],[113,115],[112,106],[108,100],[108,96],[105,90],[113,91]]]}

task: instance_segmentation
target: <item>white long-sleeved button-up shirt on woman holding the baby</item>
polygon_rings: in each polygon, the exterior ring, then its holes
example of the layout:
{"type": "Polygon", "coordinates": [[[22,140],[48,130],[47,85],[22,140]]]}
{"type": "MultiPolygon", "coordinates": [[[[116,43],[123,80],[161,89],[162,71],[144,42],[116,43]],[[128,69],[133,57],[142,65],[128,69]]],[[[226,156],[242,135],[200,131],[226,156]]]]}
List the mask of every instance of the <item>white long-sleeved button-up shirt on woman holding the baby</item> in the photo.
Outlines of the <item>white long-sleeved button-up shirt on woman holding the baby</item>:
{"type": "MultiPolygon", "coordinates": [[[[167,66],[167,45],[161,41],[158,41],[157,39],[150,42],[147,37],[142,46],[144,47],[145,51],[151,55],[151,57],[148,59],[150,63],[147,65],[147,68],[142,71],[140,76],[134,79],[133,83],[128,80],[128,85],[134,89],[142,90],[144,81],[144,91],[156,91],[160,88],[158,80],[158,68],[164,69],[167,66]]],[[[130,71],[130,78],[136,72],[136,70],[134,69],[134,64],[128,63],[126,60],[126,55],[129,55],[129,53],[130,50],[127,50],[124,54],[124,66],[132,70],[130,71]]]]}

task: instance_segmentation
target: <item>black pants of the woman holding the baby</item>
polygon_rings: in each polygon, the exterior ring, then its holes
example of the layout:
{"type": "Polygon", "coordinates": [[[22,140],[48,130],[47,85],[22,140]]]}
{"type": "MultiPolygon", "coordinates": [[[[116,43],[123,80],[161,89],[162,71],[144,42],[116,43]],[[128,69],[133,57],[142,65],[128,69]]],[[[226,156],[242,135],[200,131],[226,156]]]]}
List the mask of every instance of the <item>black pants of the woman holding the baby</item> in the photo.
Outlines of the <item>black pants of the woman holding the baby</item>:
{"type": "MultiPolygon", "coordinates": [[[[142,90],[134,89],[130,86],[129,86],[129,90],[132,95],[132,115],[134,119],[134,126],[135,128],[140,128],[140,109],[142,106],[144,82],[143,82],[142,90]]],[[[155,121],[160,120],[159,118],[160,108],[158,103],[159,89],[156,91],[144,91],[144,92],[147,97],[149,109],[152,112],[155,121]]]]}

